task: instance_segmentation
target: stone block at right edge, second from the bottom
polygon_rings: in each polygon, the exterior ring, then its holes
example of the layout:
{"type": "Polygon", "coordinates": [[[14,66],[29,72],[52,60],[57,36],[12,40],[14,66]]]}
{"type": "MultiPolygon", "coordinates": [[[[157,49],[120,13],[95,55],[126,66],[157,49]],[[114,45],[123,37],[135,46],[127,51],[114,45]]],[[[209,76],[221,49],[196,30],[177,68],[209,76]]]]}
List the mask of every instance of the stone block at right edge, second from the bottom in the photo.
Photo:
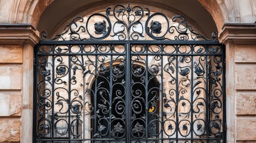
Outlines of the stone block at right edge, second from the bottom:
{"type": "Polygon", "coordinates": [[[256,114],[256,93],[241,93],[236,95],[236,114],[256,114]]]}

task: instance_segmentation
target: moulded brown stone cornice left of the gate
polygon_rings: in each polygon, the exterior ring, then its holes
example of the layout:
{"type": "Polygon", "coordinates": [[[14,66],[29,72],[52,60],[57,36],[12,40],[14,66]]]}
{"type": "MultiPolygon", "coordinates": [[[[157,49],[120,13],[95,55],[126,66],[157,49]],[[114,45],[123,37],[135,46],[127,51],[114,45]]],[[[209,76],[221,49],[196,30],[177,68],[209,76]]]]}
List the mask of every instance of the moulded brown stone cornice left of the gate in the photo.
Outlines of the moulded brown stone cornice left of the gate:
{"type": "Polygon", "coordinates": [[[0,44],[15,45],[39,41],[39,32],[31,24],[0,24],[0,44]]]}

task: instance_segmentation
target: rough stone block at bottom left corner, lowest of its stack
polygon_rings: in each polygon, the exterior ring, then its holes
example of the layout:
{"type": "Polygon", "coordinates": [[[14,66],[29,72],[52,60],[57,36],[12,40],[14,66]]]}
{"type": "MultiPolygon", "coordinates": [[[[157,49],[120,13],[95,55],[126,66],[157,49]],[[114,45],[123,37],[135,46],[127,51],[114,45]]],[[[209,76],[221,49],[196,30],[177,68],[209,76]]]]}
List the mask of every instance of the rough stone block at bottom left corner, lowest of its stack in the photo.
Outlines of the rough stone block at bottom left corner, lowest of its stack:
{"type": "Polygon", "coordinates": [[[20,142],[20,118],[0,118],[0,142],[20,142]]]}

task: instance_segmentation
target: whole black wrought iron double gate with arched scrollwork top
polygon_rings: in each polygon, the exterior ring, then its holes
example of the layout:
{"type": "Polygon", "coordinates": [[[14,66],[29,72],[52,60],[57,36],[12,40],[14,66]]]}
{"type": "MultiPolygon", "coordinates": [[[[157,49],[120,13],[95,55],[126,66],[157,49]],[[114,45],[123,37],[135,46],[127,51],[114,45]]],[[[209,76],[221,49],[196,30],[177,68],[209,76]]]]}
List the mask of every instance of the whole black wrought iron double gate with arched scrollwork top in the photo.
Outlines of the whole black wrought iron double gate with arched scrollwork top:
{"type": "Polygon", "coordinates": [[[116,5],[46,37],[34,142],[226,142],[224,45],[183,17],[116,5]]]}

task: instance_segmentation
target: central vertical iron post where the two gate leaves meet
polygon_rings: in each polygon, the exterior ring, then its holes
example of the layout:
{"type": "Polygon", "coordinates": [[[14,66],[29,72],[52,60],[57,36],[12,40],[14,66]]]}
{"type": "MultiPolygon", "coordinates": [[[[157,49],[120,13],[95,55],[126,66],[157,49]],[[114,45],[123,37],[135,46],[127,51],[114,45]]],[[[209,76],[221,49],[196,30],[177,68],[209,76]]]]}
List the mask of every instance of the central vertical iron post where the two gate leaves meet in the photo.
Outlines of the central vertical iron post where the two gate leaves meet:
{"type": "Polygon", "coordinates": [[[131,50],[130,46],[131,44],[128,42],[125,44],[125,83],[126,83],[126,92],[125,92],[125,120],[126,120],[126,128],[125,128],[125,133],[127,134],[127,138],[125,139],[126,142],[131,142],[131,133],[130,133],[130,128],[131,128],[131,50]]]}

